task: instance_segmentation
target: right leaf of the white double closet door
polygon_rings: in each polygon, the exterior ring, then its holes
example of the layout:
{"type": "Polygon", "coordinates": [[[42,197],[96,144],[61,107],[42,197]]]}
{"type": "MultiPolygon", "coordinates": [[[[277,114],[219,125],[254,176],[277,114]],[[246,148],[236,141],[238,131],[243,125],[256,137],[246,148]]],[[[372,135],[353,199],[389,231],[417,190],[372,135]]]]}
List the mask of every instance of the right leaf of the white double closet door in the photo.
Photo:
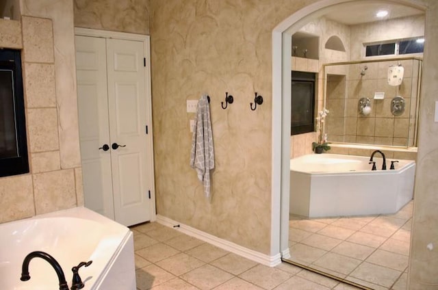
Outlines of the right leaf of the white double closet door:
{"type": "Polygon", "coordinates": [[[143,51],[143,42],[107,39],[114,213],[125,225],[150,220],[143,51]]]}

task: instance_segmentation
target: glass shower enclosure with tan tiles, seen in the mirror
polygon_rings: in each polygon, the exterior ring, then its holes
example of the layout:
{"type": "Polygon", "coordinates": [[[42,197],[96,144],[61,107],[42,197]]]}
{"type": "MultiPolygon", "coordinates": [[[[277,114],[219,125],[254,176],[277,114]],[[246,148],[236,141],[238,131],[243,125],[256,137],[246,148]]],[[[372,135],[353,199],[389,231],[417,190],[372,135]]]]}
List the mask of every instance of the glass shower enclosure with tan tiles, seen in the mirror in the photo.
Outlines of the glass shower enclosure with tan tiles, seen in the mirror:
{"type": "Polygon", "coordinates": [[[329,142],[416,146],[421,73],[418,57],[325,64],[329,142]]]}

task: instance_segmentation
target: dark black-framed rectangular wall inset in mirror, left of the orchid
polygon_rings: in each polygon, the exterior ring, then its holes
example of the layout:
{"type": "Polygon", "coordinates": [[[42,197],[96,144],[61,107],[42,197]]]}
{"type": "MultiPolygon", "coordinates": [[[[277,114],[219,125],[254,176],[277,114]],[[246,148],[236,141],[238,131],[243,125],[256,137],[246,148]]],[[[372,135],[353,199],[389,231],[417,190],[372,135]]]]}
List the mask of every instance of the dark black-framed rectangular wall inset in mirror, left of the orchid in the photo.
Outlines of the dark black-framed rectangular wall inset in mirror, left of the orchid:
{"type": "Polygon", "coordinates": [[[315,73],[292,71],[291,135],[315,130],[315,73]]]}

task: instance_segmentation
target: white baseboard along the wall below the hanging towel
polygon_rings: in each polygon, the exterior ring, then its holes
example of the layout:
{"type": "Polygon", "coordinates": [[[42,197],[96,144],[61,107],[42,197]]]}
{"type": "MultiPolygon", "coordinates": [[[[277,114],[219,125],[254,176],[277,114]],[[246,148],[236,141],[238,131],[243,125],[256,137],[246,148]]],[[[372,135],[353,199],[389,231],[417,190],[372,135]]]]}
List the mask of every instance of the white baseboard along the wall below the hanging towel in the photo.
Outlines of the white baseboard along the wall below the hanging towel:
{"type": "Polygon", "coordinates": [[[274,256],[269,256],[267,254],[262,254],[261,252],[257,252],[255,250],[250,250],[248,248],[237,245],[237,243],[233,243],[231,241],[227,241],[225,239],[220,239],[214,235],[210,235],[208,233],[203,232],[202,230],[197,230],[196,228],[192,228],[191,226],[187,226],[185,224],[181,224],[180,222],[176,222],[175,220],[171,220],[170,218],[166,218],[162,215],[157,215],[157,222],[159,224],[163,224],[164,226],[169,226],[170,228],[174,228],[174,226],[179,225],[179,227],[175,227],[175,230],[181,231],[181,233],[185,233],[185,235],[190,235],[191,237],[196,237],[196,239],[201,239],[201,241],[205,241],[207,243],[211,243],[212,245],[221,248],[223,250],[227,250],[234,254],[238,254],[243,256],[246,259],[250,259],[262,265],[266,265],[269,267],[274,267],[281,263],[281,254],[276,254],[274,256]]]}

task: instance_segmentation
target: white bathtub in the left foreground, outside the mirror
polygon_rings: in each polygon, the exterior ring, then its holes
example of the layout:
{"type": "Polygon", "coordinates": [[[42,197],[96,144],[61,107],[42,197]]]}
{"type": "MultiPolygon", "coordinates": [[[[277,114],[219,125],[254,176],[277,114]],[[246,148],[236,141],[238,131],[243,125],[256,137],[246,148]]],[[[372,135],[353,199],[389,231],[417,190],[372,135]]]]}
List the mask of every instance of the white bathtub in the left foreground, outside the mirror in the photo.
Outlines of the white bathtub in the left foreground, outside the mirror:
{"type": "Polygon", "coordinates": [[[79,269],[83,289],[136,289],[131,230],[84,207],[0,224],[0,245],[0,289],[59,289],[55,270],[40,258],[29,263],[30,280],[20,280],[23,259],[37,250],[60,263],[69,287],[71,268],[92,260],[79,269]]]}

